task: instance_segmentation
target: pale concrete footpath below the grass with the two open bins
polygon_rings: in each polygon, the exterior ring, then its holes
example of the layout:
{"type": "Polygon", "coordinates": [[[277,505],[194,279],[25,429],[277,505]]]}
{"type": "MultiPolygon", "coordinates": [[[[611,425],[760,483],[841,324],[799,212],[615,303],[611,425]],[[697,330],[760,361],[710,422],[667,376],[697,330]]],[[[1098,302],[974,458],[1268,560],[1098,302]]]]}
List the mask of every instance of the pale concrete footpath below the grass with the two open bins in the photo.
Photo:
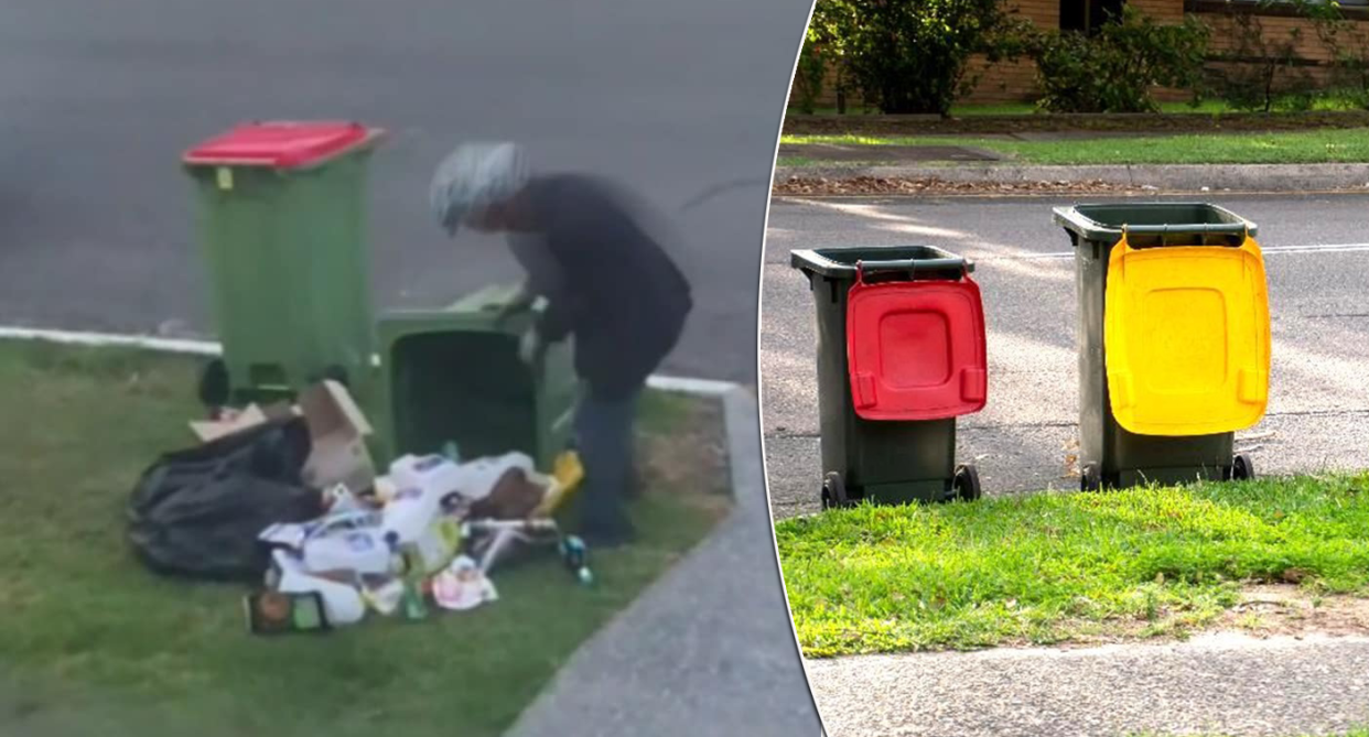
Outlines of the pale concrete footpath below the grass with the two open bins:
{"type": "Polygon", "coordinates": [[[810,660],[832,737],[1338,734],[1369,725],[1369,637],[810,660]]]}

